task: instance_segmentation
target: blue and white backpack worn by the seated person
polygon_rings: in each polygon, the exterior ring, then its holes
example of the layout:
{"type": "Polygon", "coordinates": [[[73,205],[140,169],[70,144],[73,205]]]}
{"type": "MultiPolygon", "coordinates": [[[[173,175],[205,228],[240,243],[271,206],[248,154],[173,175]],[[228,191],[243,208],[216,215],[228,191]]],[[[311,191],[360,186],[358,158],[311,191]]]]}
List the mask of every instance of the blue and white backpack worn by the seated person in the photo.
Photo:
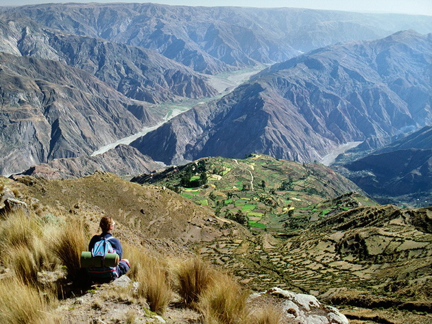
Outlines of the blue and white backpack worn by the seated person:
{"type": "Polygon", "coordinates": [[[119,277],[117,274],[117,266],[105,266],[105,257],[108,253],[116,253],[109,240],[112,238],[102,238],[95,243],[91,250],[91,254],[96,258],[101,258],[101,266],[92,266],[88,268],[88,274],[93,279],[116,279],[119,277]]]}

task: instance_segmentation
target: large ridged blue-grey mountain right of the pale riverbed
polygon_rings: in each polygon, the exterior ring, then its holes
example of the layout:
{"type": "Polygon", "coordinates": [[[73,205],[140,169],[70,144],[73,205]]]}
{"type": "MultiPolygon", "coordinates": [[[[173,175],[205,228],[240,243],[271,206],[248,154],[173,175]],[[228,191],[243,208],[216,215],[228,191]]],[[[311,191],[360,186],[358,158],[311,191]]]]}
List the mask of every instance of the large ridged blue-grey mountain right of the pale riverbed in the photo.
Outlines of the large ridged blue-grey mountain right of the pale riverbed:
{"type": "Polygon", "coordinates": [[[431,123],[431,63],[432,35],[413,31],[318,49],[132,145],[167,164],[249,153],[320,160],[341,143],[431,123]]]}

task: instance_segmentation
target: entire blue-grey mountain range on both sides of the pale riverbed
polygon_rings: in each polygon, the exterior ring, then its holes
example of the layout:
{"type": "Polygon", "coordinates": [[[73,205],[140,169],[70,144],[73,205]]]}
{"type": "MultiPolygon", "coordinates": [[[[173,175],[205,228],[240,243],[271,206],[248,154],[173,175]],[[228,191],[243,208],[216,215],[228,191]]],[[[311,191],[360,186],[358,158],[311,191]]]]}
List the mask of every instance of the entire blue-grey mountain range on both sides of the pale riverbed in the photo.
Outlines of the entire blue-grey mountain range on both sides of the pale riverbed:
{"type": "Polygon", "coordinates": [[[401,29],[431,32],[432,18],[152,3],[2,8],[0,171],[49,163],[42,170],[73,177],[114,171],[113,159],[129,174],[158,166],[149,159],[311,162],[346,142],[376,149],[432,119],[431,36],[401,29]],[[212,74],[262,64],[274,65],[133,142],[141,153],[90,156],[160,124],[166,110],[155,103],[214,97],[222,87],[212,74]]]}

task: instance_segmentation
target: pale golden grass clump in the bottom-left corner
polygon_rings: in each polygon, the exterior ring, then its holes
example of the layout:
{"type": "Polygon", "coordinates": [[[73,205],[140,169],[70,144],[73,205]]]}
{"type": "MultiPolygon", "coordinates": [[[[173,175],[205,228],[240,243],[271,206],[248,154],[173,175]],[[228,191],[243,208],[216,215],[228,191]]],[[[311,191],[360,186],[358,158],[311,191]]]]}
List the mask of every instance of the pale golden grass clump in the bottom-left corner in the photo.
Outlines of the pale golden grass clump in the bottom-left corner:
{"type": "Polygon", "coordinates": [[[43,296],[19,279],[1,280],[0,323],[55,323],[56,319],[49,314],[54,300],[53,296],[43,296]]]}

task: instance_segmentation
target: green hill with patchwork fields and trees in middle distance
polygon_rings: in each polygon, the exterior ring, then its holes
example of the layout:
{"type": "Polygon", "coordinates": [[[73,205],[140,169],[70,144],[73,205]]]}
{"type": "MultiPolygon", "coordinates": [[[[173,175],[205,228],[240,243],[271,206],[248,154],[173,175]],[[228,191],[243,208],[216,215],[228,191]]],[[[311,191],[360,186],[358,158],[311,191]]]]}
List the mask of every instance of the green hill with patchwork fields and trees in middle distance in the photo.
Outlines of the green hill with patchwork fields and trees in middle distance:
{"type": "MultiPolygon", "coordinates": [[[[167,186],[218,216],[269,232],[285,230],[293,214],[309,215],[316,210],[313,204],[359,190],[322,164],[301,164],[268,155],[251,155],[242,160],[203,158],[131,181],[167,186]]],[[[361,195],[352,199],[355,205],[359,201],[373,204],[361,195]]]]}

